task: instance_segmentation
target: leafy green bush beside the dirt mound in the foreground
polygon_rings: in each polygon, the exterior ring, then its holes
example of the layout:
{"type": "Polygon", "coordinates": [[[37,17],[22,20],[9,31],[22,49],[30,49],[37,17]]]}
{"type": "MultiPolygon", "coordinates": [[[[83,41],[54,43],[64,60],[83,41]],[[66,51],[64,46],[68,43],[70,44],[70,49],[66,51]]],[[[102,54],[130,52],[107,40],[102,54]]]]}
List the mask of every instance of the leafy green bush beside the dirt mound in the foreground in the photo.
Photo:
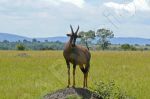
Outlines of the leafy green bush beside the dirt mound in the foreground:
{"type": "Polygon", "coordinates": [[[94,93],[98,99],[135,99],[116,86],[114,81],[96,83],[94,93]]]}

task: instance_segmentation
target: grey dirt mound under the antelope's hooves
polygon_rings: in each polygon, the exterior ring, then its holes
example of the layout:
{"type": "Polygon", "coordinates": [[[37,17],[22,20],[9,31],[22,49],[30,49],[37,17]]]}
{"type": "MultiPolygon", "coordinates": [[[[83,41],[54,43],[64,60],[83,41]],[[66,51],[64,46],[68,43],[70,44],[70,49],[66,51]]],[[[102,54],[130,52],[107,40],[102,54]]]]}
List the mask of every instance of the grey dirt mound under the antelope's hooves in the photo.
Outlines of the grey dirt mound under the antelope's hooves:
{"type": "Polygon", "coordinates": [[[45,95],[44,99],[80,99],[75,97],[82,97],[82,99],[98,99],[91,91],[83,88],[61,89],[54,93],[45,95]],[[74,98],[69,98],[71,96],[74,98]]]}

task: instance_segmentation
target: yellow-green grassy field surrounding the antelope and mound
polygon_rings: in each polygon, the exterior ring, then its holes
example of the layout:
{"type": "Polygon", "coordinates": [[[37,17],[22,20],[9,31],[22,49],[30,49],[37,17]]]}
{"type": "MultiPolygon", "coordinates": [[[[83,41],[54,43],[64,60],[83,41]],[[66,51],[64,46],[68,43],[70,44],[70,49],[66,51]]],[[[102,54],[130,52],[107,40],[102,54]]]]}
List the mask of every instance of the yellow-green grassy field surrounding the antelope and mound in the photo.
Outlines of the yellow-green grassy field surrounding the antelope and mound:
{"type": "MultiPolygon", "coordinates": [[[[77,87],[82,80],[77,67],[77,87]]],[[[110,80],[137,99],[150,99],[150,52],[92,52],[89,87],[110,80]]],[[[0,99],[41,99],[66,86],[62,51],[0,51],[0,99]]]]}

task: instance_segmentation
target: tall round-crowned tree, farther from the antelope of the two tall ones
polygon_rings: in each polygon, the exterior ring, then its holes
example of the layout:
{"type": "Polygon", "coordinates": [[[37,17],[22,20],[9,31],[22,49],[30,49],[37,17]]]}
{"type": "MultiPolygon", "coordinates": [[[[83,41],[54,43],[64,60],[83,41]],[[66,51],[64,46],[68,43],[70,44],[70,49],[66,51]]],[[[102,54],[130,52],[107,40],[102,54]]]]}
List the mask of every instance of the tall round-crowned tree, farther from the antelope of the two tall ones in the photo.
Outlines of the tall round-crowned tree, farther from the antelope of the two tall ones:
{"type": "Polygon", "coordinates": [[[114,34],[111,30],[102,28],[98,29],[96,36],[99,38],[98,43],[101,45],[102,49],[105,50],[111,43],[109,39],[114,37],[114,34]]]}

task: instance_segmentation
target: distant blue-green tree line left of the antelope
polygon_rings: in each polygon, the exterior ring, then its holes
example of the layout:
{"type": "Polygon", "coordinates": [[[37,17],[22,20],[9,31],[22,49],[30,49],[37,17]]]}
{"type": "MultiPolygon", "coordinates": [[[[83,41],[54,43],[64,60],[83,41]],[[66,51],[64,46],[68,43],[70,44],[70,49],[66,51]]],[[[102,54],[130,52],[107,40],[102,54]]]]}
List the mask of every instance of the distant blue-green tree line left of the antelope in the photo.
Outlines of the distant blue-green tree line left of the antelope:
{"type": "Polygon", "coordinates": [[[64,47],[64,43],[55,41],[55,42],[40,42],[36,39],[32,41],[17,41],[17,42],[9,42],[4,40],[0,42],[0,50],[62,50],[64,47]]]}

